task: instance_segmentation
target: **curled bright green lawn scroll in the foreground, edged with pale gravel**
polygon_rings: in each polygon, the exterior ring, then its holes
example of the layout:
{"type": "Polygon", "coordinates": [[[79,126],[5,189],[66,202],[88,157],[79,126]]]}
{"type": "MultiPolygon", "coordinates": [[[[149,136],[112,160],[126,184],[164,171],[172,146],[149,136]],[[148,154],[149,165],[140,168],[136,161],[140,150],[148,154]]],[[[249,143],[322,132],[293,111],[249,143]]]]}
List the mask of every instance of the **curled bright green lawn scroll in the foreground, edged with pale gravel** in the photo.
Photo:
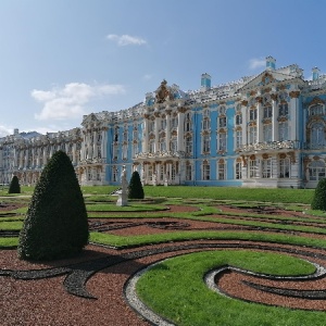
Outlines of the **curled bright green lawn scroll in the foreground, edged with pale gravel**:
{"type": "Polygon", "coordinates": [[[152,266],[137,284],[143,302],[178,326],[322,326],[325,313],[247,303],[205,286],[212,268],[233,265],[256,273],[301,275],[314,267],[291,256],[250,251],[208,251],[168,259],[152,266]]]}

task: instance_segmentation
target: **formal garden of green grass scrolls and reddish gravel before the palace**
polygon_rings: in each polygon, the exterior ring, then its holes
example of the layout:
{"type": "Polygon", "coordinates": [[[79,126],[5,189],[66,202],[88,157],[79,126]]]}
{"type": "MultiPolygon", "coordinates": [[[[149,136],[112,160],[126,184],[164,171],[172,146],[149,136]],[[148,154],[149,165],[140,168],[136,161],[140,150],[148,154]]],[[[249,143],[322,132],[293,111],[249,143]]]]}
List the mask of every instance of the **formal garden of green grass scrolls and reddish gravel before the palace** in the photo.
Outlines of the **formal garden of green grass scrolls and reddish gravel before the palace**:
{"type": "Polygon", "coordinates": [[[2,325],[325,325],[317,191],[64,180],[0,189],[2,325]]]}

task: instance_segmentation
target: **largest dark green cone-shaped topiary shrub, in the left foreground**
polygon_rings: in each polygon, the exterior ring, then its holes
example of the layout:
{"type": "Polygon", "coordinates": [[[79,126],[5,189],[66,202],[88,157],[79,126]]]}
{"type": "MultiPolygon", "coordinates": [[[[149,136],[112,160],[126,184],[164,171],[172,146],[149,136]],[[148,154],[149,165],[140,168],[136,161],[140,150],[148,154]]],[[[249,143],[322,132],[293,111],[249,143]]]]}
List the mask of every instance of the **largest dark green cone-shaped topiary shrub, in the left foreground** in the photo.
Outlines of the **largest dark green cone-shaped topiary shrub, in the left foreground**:
{"type": "Polygon", "coordinates": [[[83,193],[63,151],[49,160],[37,183],[20,234],[18,256],[53,260],[71,256],[88,243],[83,193]]]}

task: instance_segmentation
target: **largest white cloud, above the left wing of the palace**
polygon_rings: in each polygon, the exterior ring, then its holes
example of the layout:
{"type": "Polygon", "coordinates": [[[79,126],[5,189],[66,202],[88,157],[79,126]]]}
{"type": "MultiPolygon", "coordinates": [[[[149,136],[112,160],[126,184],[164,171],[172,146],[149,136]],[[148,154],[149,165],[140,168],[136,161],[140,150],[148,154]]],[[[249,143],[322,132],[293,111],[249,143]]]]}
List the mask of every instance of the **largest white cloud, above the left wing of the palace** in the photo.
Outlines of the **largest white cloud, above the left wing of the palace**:
{"type": "Polygon", "coordinates": [[[54,87],[51,90],[34,89],[30,95],[43,104],[35,117],[40,121],[80,118],[86,114],[86,106],[91,100],[102,96],[124,93],[122,85],[87,85],[71,83],[64,87],[54,87]]]}

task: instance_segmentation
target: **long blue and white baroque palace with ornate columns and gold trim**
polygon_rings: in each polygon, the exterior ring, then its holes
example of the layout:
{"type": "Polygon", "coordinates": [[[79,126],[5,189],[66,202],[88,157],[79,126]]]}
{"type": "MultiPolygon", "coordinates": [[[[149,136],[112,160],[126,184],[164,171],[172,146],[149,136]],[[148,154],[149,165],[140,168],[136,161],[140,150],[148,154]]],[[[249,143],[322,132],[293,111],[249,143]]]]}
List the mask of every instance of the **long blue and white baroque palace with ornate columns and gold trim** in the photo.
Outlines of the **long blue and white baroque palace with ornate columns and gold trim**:
{"type": "Polygon", "coordinates": [[[315,188],[325,178],[326,75],[292,64],[183,91],[163,80],[143,102],[85,115],[82,127],[0,139],[0,183],[34,185],[57,150],[80,185],[120,185],[138,171],[143,185],[315,188]]]}

